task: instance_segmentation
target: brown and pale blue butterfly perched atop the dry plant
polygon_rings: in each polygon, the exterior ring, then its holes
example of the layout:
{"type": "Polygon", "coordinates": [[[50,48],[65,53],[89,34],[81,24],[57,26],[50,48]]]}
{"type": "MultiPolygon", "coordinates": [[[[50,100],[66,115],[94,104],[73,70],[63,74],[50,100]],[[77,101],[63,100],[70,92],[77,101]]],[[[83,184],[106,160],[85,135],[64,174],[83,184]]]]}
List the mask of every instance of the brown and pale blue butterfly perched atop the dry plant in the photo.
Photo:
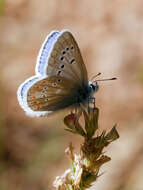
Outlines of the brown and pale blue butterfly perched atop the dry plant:
{"type": "Polygon", "coordinates": [[[52,31],[39,51],[35,75],[20,85],[17,97],[29,116],[86,104],[98,90],[88,81],[79,47],[68,30],[52,31]]]}

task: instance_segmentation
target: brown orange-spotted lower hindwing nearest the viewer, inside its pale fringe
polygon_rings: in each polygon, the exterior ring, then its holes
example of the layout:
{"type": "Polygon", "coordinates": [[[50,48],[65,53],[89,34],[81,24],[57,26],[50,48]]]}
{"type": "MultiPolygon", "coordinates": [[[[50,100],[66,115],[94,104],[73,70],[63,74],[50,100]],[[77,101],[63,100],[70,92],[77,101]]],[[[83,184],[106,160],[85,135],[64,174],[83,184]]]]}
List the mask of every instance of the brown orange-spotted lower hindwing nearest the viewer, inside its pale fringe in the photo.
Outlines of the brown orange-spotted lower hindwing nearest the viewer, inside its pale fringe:
{"type": "Polygon", "coordinates": [[[29,88],[27,104],[33,111],[57,111],[74,104],[76,91],[77,85],[69,79],[46,77],[29,88]]]}

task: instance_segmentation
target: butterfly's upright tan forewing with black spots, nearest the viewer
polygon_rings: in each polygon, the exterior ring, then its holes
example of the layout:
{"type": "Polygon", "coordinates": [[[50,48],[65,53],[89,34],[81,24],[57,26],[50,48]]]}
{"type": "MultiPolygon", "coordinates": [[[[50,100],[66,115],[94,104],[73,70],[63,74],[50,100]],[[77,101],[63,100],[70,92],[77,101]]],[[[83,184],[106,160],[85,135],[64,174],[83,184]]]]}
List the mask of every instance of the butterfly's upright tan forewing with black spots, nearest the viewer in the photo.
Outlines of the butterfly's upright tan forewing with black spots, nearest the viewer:
{"type": "MultiPolygon", "coordinates": [[[[87,84],[87,71],[78,45],[72,34],[68,31],[63,31],[60,34],[53,32],[51,36],[49,36],[47,43],[49,44],[52,38],[54,38],[55,43],[50,55],[48,56],[47,54],[47,63],[45,66],[46,75],[62,76],[76,82],[78,81],[78,83],[81,84],[87,84]]],[[[41,53],[39,61],[45,59],[46,47],[50,47],[50,45],[45,44],[44,53],[41,53]]]]}

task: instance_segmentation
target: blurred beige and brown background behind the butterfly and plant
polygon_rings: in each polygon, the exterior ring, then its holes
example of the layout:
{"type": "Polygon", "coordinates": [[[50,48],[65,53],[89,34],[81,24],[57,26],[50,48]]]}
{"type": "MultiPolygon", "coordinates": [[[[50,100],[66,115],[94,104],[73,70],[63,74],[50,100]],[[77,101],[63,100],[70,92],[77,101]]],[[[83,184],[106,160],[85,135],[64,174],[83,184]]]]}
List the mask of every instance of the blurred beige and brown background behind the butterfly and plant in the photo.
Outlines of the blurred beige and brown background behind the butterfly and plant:
{"type": "Polygon", "coordinates": [[[143,189],[143,1],[0,0],[0,189],[46,190],[69,166],[64,154],[78,136],[64,131],[61,111],[29,118],[17,88],[34,75],[38,51],[51,30],[75,36],[89,78],[100,83],[100,129],[117,123],[120,139],[107,149],[112,160],[91,189],[143,189]]]}

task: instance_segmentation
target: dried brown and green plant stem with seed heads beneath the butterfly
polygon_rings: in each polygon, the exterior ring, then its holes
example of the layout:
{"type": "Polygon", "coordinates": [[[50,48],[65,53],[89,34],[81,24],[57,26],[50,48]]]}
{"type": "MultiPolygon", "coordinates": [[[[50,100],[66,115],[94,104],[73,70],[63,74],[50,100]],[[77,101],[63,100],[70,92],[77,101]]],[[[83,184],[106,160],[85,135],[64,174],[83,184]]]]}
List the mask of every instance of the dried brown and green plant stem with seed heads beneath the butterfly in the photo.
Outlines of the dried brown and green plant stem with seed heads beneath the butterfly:
{"type": "Polygon", "coordinates": [[[119,138],[115,126],[106,133],[95,135],[98,129],[98,108],[82,108],[77,113],[71,113],[64,118],[66,130],[83,137],[80,154],[73,153],[72,144],[66,149],[71,160],[71,167],[62,176],[56,177],[54,186],[57,190],[85,190],[100,176],[100,167],[111,160],[104,155],[104,148],[119,138]],[[83,115],[84,126],[79,122],[83,115]]]}

